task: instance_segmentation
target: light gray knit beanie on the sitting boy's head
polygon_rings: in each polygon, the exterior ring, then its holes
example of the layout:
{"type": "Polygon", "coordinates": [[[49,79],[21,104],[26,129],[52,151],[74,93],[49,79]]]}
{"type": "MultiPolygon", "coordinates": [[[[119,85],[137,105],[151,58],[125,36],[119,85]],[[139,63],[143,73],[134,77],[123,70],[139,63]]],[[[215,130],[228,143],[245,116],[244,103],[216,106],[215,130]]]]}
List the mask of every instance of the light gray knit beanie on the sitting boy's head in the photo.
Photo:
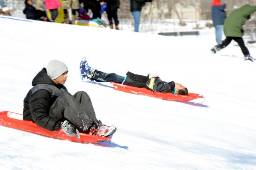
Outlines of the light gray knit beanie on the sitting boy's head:
{"type": "Polygon", "coordinates": [[[65,63],[58,60],[52,60],[47,64],[46,71],[47,75],[49,75],[52,80],[55,80],[56,78],[60,77],[64,72],[68,71],[68,69],[65,63]]]}

